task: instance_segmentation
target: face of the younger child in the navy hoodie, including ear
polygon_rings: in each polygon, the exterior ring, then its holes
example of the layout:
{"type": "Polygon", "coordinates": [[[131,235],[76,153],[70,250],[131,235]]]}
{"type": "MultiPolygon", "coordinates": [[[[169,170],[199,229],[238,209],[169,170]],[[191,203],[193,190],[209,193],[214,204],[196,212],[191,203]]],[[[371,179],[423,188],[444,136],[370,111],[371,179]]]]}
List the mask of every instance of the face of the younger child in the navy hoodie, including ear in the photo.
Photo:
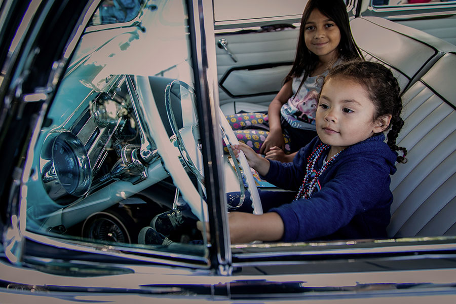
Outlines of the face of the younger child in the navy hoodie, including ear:
{"type": "Polygon", "coordinates": [[[389,118],[374,121],[374,115],[375,106],[363,86],[343,77],[327,79],[315,118],[318,136],[335,154],[386,130],[389,118]]]}

